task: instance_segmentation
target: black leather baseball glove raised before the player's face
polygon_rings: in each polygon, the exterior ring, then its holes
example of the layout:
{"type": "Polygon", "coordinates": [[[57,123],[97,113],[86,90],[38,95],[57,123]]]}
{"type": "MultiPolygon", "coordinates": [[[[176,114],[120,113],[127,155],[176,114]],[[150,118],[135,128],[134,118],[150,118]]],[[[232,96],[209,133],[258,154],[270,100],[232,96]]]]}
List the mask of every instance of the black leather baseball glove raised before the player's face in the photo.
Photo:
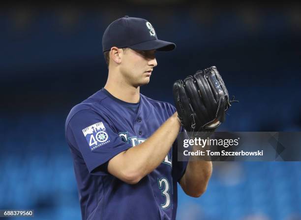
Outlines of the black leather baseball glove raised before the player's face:
{"type": "Polygon", "coordinates": [[[214,131],[231,106],[225,83],[216,67],[197,71],[173,86],[174,101],[182,126],[188,132],[214,131]]]}

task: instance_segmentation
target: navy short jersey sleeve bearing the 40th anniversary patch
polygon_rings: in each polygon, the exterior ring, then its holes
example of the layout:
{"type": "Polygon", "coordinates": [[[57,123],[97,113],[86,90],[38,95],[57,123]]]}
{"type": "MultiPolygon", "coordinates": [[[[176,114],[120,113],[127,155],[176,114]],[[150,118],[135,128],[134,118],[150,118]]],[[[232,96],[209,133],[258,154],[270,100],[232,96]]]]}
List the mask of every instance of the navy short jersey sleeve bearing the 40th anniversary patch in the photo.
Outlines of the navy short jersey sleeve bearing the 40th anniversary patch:
{"type": "Polygon", "coordinates": [[[70,147],[80,151],[90,173],[132,147],[121,140],[107,117],[92,110],[80,110],[73,115],[66,128],[66,139],[70,147]]]}

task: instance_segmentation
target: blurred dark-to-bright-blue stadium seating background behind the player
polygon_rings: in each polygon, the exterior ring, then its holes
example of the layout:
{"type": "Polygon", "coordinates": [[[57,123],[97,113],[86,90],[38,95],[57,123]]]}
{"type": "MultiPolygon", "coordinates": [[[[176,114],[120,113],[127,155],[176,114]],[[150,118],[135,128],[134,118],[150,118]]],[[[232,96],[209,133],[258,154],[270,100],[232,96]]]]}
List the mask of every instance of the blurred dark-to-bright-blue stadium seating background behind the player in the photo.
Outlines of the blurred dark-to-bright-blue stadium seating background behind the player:
{"type": "MultiPolygon", "coordinates": [[[[69,110],[102,88],[102,34],[124,15],[175,42],[141,92],[172,101],[176,79],[215,65],[240,104],[220,131],[301,131],[301,4],[127,0],[106,5],[0,8],[0,209],[39,220],[80,220],[69,110]]],[[[208,190],[179,189],[178,220],[300,220],[300,162],[214,163],[208,190]]],[[[118,209],[118,207],[117,207],[118,209]]]]}

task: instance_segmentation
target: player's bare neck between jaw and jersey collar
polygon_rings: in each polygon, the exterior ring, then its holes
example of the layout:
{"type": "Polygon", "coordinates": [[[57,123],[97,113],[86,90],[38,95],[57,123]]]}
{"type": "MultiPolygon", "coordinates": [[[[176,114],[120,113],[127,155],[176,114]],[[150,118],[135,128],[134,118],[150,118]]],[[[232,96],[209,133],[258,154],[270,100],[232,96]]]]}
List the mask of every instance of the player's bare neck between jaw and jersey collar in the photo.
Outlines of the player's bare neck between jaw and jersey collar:
{"type": "Polygon", "coordinates": [[[113,83],[109,80],[104,87],[111,95],[128,103],[138,103],[140,100],[140,87],[133,87],[125,83],[113,83]]]}

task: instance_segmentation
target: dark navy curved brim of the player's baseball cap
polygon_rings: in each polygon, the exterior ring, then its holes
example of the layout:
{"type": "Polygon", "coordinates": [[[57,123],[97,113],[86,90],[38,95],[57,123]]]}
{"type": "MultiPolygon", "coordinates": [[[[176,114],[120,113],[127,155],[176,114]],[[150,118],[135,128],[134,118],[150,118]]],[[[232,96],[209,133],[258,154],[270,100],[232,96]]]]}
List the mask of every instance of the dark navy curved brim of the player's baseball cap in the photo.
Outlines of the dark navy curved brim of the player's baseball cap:
{"type": "Polygon", "coordinates": [[[157,50],[157,51],[171,51],[176,48],[176,44],[164,40],[149,40],[142,43],[129,46],[134,50],[157,50]]]}

